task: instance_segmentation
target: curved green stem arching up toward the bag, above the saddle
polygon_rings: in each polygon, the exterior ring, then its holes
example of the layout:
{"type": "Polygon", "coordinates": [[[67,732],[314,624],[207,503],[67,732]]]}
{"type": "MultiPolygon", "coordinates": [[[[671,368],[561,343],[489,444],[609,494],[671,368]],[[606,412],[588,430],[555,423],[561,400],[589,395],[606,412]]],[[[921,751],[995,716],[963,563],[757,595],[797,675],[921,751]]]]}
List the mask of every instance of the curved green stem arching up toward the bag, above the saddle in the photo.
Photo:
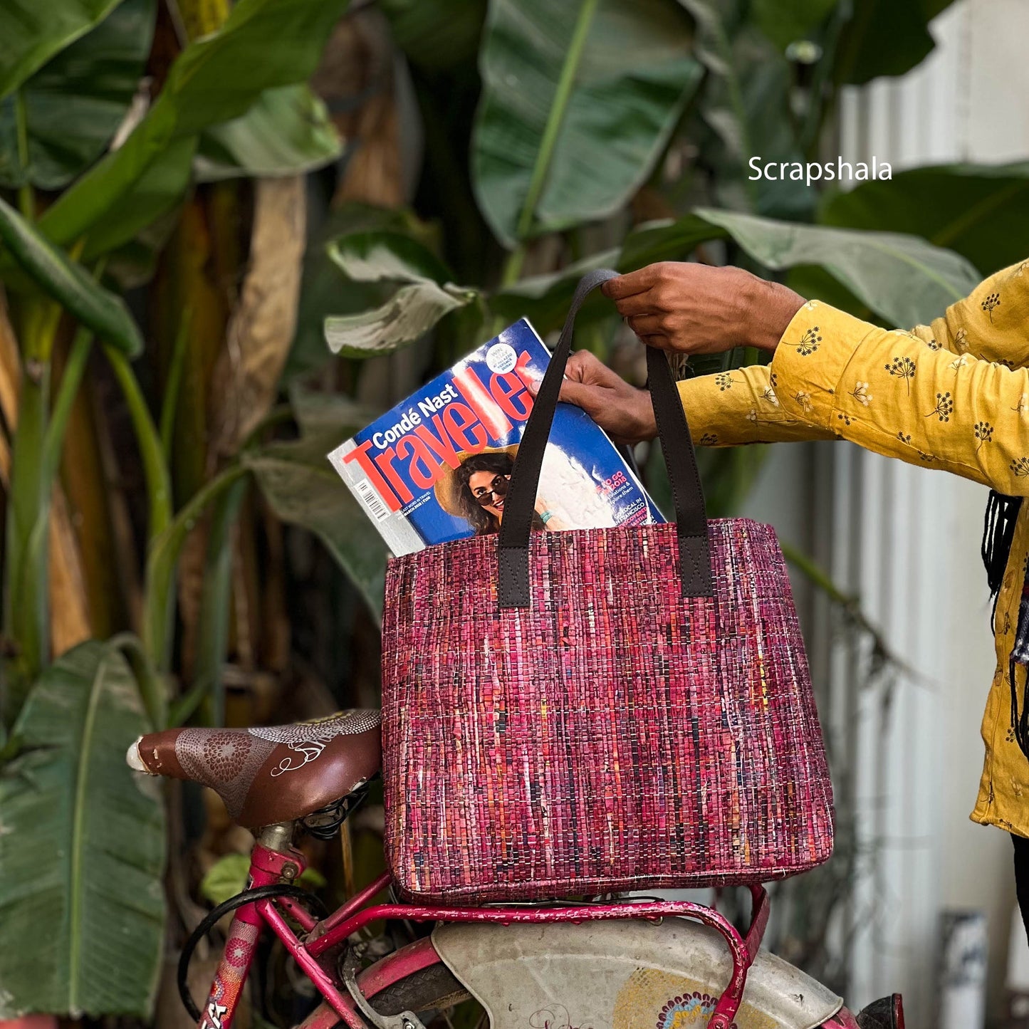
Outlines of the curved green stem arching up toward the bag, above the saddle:
{"type": "Polygon", "coordinates": [[[143,649],[158,671],[168,667],[172,630],[172,578],[186,537],[209,503],[237,480],[249,473],[243,465],[229,465],[193,494],[168,528],[150,541],[146,562],[146,598],[143,610],[143,649]]]}

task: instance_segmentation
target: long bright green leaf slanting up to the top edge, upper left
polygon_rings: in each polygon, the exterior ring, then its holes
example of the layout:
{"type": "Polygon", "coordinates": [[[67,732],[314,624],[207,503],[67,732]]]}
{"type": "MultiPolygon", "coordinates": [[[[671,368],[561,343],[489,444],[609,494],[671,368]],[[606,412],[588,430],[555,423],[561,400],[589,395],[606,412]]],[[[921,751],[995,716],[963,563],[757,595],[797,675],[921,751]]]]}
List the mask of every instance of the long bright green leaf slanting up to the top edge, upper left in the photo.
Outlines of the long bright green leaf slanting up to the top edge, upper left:
{"type": "Polygon", "coordinates": [[[265,90],[305,81],[346,3],[239,0],[217,32],[179,55],[153,106],[122,146],[63,193],[40,218],[40,227],[61,246],[111,222],[121,228],[108,229],[111,238],[133,239],[175,198],[151,194],[152,209],[140,205],[135,220],[122,216],[123,198],[174,144],[240,117],[265,90]]]}

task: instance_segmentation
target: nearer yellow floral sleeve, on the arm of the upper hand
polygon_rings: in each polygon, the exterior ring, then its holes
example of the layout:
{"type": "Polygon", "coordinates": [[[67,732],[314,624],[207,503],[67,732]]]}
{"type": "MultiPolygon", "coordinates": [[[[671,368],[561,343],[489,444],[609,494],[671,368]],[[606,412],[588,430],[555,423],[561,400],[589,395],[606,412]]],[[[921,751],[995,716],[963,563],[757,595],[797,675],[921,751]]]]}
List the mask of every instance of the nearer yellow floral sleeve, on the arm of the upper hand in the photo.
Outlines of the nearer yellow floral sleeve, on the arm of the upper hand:
{"type": "Polygon", "coordinates": [[[988,279],[931,333],[879,328],[811,300],[783,334],[771,375],[791,418],[1029,495],[1029,371],[1012,366],[1026,361],[1027,319],[1029,262],[988,279]],[[936,332],[945,330],[948,342],[963,341],[963,352],[942,345],[936,332]],[[1009,356],[1000,363],[977,351],[1009,356]]]}

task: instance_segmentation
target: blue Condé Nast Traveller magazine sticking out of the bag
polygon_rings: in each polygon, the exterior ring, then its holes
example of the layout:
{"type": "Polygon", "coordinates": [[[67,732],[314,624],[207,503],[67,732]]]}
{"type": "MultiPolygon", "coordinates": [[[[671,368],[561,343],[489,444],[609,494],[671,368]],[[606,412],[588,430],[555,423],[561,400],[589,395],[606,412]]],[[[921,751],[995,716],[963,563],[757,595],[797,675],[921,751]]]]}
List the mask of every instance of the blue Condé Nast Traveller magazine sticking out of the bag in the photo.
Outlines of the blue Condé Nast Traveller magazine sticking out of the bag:
{"type": "MultiPolygon", "coordinates": [[[[514,456],[549,351],[525,319],[437,376],[329,454],[395,555],[498,532],[514,456]]],[[[533,529],[664,522],[586,412],[559,403],[533,529]]]]}

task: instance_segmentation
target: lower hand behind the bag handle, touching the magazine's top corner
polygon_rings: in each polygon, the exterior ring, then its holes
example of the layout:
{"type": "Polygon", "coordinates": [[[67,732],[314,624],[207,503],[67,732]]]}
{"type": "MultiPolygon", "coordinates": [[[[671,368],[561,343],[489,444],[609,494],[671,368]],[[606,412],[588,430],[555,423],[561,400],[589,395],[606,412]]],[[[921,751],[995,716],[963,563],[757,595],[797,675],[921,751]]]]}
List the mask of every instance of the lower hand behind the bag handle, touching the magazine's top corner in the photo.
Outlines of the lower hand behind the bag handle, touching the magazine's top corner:
{"type": "Polygon", "coordinates": [[[559,399],[581,407],[616,443],[658,434],[650,394],[631,386],[589,350],[576,350],[568,358],[559,399]]]}

